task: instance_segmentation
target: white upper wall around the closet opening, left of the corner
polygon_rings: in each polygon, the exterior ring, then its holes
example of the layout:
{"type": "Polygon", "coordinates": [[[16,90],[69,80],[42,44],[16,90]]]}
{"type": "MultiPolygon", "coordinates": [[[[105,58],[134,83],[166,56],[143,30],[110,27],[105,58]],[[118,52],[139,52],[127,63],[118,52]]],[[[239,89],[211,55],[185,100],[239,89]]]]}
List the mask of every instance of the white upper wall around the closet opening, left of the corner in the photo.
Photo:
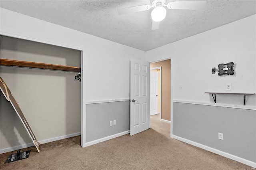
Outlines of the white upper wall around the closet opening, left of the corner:
{"type": "MultiPolygon", "coordinates": [[[[130,97],[130,59],[144,59],[144,51],[3,8],[0,8],[0,17],[0,32],[6,36],[84,50],[85,68],[83,69],[85,69],[86,84],[81,88],[86,91],[86,101],[130,97]]],[[[21,93],[14,95],[18,98],[22,97],[19,96],[21,93]]],[[[82,105],[85,106],[85,102],[82,105]]],[[[82,115],[84,117],[81,119],[85,122],[85,109],[82,115]]],[[[85,133],[85,126],[82,128],[85,133]]],[[[40,136],[40,133],[35,135],[40,136]]],[[[82,140],[85,142],[85,138],[82,140]]]]}

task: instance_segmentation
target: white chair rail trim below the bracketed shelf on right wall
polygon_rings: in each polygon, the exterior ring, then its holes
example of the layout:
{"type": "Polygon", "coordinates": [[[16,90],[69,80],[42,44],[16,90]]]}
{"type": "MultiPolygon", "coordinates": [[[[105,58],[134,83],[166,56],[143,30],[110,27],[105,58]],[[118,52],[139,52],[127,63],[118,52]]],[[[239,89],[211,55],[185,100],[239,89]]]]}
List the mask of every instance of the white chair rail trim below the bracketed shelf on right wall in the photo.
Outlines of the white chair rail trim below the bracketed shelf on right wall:
{"type": "Polygon", "coordinates": [[[206,103],[206,102],[184,101],[184,100],[176,100],[176,99],[174,99],[173,102],[176,102],[176,103],[188,103],[188,104],[195,104],[195,105],[216,106],[216,107],[229,107],[229,108],[236,108],[236,109],[256,110],[256,107],[253,107],[253,106],[244,106],[244,105],[230,105],[230,104],[206,103]]]}

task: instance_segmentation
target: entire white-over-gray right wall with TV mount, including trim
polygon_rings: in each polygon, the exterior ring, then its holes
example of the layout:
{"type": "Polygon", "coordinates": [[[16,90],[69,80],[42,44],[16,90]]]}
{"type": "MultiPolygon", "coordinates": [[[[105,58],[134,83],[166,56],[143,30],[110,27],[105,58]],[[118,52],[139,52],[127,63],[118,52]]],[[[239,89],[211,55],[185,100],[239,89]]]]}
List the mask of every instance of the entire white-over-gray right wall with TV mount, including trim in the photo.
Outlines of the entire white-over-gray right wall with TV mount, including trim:
{"type": "Polygon", "coordinates": [[[148,61],[171,58],[171,136],[256,167],[256,15],[146,52],[148,61]],[[172,51],[172,52],[170,52],[172,51]],[[212,74],[235,63],[235,75],[212,74]],[[232,90],[226,91],[226,84],[232,90]],[[182,85],[183,90],[179,90],[182,85]],[[218,139],[218,133],[224,140],[218,139]]]}

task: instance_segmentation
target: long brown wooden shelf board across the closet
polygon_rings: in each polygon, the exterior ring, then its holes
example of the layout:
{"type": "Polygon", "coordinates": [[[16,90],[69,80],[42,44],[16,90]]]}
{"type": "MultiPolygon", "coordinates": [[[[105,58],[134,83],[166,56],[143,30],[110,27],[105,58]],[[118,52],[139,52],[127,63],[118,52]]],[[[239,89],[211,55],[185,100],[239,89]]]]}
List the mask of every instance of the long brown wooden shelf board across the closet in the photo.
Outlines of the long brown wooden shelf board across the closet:
{"type": "Polygon", "coordinates": [[[36,69],[49,69],[49,70],[58,70],[58,71],[74,71],[74,72],[81,71],[80,67],[46,64],[46,63],[34,63],[34,62],[18,61],[18,60],[11,60],[11,59],[0,59],[0,65],[36,68],[36,69]]]}

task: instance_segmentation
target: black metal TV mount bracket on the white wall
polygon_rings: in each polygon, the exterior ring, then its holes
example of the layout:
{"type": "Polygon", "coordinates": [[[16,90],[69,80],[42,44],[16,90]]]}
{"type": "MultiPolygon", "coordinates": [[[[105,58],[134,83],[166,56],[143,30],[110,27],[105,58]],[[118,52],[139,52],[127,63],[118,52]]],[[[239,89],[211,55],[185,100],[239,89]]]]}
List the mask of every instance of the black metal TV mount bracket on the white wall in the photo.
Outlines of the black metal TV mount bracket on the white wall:
{"type": "Polygon", "coordinates": [[[218,75],[234,75],[234,62],[218,64],[218,69],[212,67],[212,74],[218,71],[218,75]]]}

